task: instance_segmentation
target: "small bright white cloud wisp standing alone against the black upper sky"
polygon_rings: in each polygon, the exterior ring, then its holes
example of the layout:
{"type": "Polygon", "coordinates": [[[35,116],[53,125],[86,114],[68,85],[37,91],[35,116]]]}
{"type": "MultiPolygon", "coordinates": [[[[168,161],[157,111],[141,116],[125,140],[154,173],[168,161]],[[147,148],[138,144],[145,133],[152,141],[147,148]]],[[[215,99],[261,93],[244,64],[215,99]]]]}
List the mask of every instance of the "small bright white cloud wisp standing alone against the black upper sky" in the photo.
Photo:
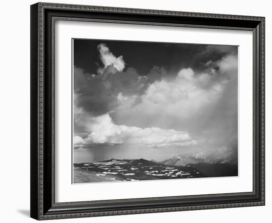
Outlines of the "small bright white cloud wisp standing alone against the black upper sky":
{"type": "MultiPolygon", "coordinates": [[[[118,71],[123,71],[125,68],[125,61],[123,56],[116,57],[110,51],[109,48],[105,44],[99,44],[97,49],[100,53],[100,59],[104,64],[104,69],[109,65],[113,65],[118,71]]],[[[101,70],[99,70],[101,72],[101,70]]]]}

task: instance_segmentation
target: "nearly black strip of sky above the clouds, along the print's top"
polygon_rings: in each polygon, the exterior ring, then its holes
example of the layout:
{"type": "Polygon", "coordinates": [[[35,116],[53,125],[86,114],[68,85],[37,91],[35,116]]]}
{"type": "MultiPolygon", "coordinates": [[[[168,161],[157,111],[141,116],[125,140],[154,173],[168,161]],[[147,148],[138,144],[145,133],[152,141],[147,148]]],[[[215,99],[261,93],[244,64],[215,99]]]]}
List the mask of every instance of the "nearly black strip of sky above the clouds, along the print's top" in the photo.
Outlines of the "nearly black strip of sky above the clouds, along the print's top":
{"type": "Polygon", "coordinates": [[[74,65],[96,73],[98,67],[103,67],[97,51],[100,44],[105,44],[115,56],[123,56],[126,67],[134,67],[141,76],[154,66],[164,67],[168,75],[175,75],[184,67],[201,71],[209,60],[219,60],[232,52],[237,54],[235,46],[75,39],[74,65]]]}

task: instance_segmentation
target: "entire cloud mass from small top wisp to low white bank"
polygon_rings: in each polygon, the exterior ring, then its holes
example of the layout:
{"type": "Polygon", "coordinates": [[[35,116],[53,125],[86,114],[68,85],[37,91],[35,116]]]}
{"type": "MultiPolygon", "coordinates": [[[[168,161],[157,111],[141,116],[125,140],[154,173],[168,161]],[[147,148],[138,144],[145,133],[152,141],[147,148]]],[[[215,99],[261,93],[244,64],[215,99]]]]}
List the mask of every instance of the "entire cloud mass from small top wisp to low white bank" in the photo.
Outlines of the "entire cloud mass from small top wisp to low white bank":
{"type": "Polygon", "coordinates": [[[207,47],[206,55],[224,56],[207,60],[201,71],[153,66],[145,75],[125,69],[106,45],[97,49],[104,65],[97,74],[74,68],[75,147],[235,144],[238,59],[229,49],[207,47]]]}

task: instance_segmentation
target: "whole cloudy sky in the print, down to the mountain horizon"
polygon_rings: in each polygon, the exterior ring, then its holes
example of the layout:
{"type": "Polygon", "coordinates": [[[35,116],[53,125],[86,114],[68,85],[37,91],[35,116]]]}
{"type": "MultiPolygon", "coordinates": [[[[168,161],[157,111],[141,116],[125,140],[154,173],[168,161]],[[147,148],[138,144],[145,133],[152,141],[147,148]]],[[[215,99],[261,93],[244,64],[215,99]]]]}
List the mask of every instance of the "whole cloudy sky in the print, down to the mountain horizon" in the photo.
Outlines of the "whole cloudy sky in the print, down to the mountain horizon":
{"type": "Polygon", "coordinates": [[[75,163],[237,150],[237,46],[73,43],[75,163]]]}

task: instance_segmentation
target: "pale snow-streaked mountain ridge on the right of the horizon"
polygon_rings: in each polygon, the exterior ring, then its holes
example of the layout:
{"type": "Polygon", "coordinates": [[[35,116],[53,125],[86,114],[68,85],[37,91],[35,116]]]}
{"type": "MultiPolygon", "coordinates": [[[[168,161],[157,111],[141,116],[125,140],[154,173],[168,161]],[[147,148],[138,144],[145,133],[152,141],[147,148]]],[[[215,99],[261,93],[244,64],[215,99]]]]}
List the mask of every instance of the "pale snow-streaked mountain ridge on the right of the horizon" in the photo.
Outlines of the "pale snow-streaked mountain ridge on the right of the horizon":
{"type": "MultiPolygon", "coordinates": [[[[238,160],[237,151],[228,147],[219,149],[204,150],[198,153],[188,153],[177,155],[173,158],[158,162],[164,165],[186,166],[188,164],[235,164],[238,160]]],[[[155,162],[155,161],[153,161],[155,162]]]]}

